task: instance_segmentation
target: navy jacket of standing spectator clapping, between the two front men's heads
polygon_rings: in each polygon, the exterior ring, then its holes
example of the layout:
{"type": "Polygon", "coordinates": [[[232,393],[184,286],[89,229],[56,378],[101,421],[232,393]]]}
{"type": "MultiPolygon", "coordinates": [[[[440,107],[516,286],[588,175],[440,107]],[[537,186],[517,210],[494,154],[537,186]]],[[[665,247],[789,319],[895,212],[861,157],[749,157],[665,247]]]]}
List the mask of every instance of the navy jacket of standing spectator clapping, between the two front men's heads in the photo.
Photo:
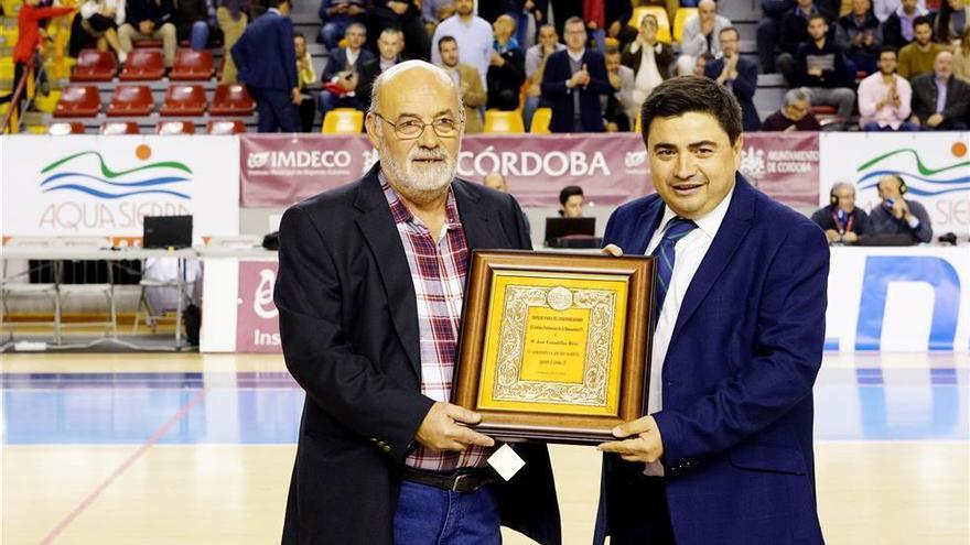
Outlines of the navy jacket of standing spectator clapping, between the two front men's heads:
{"type": "Polygon", "coordinates": [[[606,61],[596,50],[586,47],[583,64],[590,72],[590,85],[585,87],[565,87],[565,80],[572,77],[569,66],[569,50],[558,51],[546,59],[542,73],[542,98],[552,103],[552,120],[549,130],[552,132],[573,132],[572,94],[580,94],[580,112],[583,126],[590,132],[603,132],[603,111],[600,96],[612,95],[613,86],[606,76],[606,61]]]}

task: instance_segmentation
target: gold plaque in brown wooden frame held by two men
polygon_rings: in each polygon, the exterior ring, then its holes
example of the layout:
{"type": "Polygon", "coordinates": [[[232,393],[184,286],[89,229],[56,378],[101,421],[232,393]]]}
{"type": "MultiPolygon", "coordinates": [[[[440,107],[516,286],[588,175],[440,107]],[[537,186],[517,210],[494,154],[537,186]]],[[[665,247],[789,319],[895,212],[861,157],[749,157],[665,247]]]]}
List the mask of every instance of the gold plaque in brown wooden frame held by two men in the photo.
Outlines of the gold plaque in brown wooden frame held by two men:
{"type": "Polygon", "coordinates": [[[505,440],[595,444],[644,415],[654,258],[475,251],[452,402],[505,440]]]}

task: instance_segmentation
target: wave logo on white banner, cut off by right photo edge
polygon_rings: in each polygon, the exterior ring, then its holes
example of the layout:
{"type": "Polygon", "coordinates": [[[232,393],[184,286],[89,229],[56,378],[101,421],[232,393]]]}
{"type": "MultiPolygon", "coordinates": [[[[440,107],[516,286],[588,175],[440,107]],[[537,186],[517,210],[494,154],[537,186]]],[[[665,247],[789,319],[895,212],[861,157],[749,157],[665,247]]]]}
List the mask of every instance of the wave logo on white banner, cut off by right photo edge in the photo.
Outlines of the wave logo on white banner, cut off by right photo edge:
{"type": "MultiPolygon", "coordinates": [[[[967,154],[967,144],[956,142],[950,148],[955,157],[962,157],[967,154]]],[[[919,197],[938,197],[949,193],[970,192],[970,161],[957,161],[953,164],[931,168],[923,163],[919,153],[912,148],[902,148],[884,153],[856,168],[862,173],[871,167],[879,165],[897,155],[912,155],[915,160],[915,170],[899,170],[882,167],[866,172],[862,175],[856,184],[860,189],[875,188],[879,185],[879,178],[886,175],[897,175],[906,181],[908,194],[919,197]]]]}

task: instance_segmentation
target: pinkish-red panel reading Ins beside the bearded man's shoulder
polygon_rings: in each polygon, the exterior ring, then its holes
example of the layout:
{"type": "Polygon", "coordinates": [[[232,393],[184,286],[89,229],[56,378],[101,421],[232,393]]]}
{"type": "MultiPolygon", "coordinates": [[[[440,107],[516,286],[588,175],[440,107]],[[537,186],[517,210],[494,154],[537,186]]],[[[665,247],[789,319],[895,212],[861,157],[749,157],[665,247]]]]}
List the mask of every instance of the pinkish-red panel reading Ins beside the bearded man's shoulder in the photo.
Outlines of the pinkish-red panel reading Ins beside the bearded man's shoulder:
{"type": "Polygon", "coordinates": [[[237,352],[280,352],[279,310],[272,302],[279,264],[239,261],[236,308],[237,352]]]}

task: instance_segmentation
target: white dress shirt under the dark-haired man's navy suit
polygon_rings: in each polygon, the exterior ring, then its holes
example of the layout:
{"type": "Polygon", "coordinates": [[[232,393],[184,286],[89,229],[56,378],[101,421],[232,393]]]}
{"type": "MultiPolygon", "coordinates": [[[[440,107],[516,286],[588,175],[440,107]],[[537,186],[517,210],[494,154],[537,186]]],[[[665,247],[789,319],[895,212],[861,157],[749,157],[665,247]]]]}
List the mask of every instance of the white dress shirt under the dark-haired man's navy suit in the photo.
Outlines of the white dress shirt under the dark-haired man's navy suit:
{"type": "MultiPolygon", "coordinates": [[[[664,360],[667,358],[667,349],[670,346],[670,338],[673,335],[673,325],[677,324],[677,316],[680,314],[680,304],[690,287],[694,273],[707,255],[718,229],[724,221],[728,214],[728,207],[731,205],[731,196],[734,195],[734,187],[728,193],[718,206],[709,211],[704,217],[693,220],[698,228],[690,231],[682,239],[678,240],[673,246],[673,271],[670,274],[670,285],[667,287],[667,297],[664,299],[664,308],[660,312],[660,318],[657,320],[657,329],[654,330],[654,347],[650,352],[650,382],[649,397],[647,403],[647,413],[654,414],[664,407],[664,360]]],[[[660,227],[650,238],[647,244],[647,255],[653,253],[654,249],[660,243],[664,237],[664,228],[677,214],[665,206],[664,218],[660,220],[660,227]]],[[[662,440],[662,437],[661,437],[662,440]]],[[[662,476],[664,466],[659,461],[647,464],[644,471],[649,476],[662,476]]]]}

